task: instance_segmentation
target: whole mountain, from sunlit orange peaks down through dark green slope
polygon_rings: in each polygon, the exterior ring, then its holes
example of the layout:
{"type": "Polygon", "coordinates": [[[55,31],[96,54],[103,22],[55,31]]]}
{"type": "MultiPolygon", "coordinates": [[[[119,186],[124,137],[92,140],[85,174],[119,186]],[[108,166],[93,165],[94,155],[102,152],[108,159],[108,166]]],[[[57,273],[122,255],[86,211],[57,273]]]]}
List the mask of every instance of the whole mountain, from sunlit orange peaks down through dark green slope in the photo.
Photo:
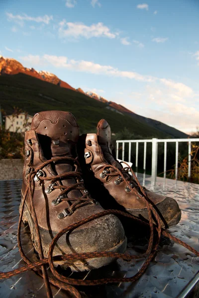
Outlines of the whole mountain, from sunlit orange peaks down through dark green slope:
{"type": "MultiPolygon", "coordinates": [[[[120,115],[120,116],[125,116],[125,120],[126,120],[126,116],[127,116],[127,119],[131,119],[131,121],[130,120],[129,121],[132,122],[132,125],[133,125],[133,123],[140,123],[140,124],[144,125],[144,127],[148,127],[148,129],[146,129],[146,131],[150,131],[151,132],[150,134],[152,134],[152,132],[153,132],[154,136],[158,135],[158,136],[161,136],[162,138],[163,138],[163,135],[167,136],[169,138],[187,138],[187,136],[188,136],[187,134],[185,134],[173,127],[170,127],[169,125],[166,125],[160,121],[137,115],[136,113],[128,110],[127,108],[125,108],[124,106],[122,106],[120,104],[106,100],[105,98],[101,97],[100,95],[98,95],[95,92],[92,92],[92,91],[84,92],[81,88],[75,89],[71,85],[69,85],[67,82],[62,81],[55,74],[51,74],[46,71],[38,72],[38,71],[34,70],[33,68],[28,69],[28,68],[23,67],[22,64],[20,64],[18,61],[14,60],[14,59],[3,58],[2,56],[0,56],[0,82],[2,83],[2,85],[4,85],[4,78],[3,78],[4,76],[6,76],[5,81],[7,80],[10,82],[10,88],[11,88],[10,92],[12,92],[14,90],[14,88],[16,88],[16,86],[14,87],[14,85],[17,81],[18,86],[21,85],[20,88],[23,90],[23,92],[25,94],[24,90],[25,90],[26,86],[25,86],[25,83],[20,81],[20,79],[23,79],[25,82],[27,82],[27,84],[28,84],[27,87],[29,88],[29,90],[31,90],[32,89],[32,86],[30,85],[31,79],[28,78],[28,76],[30,76],[30,77],[40,80],[40,82],[34,81],[34,83],[39,86],[38,93],[35,94],[35,96],[36,97],[39,96],[40,101],[41,101],[41,98],[43,101],[45,101],[44,99],[51,98],[52,101],[54,101],[55,103],[57,102],[58,106],[60,105],[60,102],[66,101],[66,107],[67,107],[68,106],[67,102],[70,102],[70,99],[67,96],[72,96],[75,100],[77,100],[77,104],[78,104],[78,100],[80,98],[84,98],[86,101],[89,100],[88,103],[91,106],[96,106],[97,102],[103,104],[103,113],[101,114],[100,118],[105,118],[105,116],[104,116],[106,114],[105,111],[107,111],[107,113],[110,113],[110,114],[116,112],[117,113],[116,117],[118,117],[118,115],[120,115]],[[21,74],[23,74],[23,76],[21,76],[21,74]],[[46,83],[47,83],[47,85],[46,85],[46,83]],[[62,93],[60,91],[60,89],[59,90],[56,89],[57,93],[55,94],[54,97],[49,92],[47,92],[47,90],[45,90],[46,87],[48,87],[48,89],[55,90],[55,89],[53,89],[53,87],[50,86],[52,84],[56,85],[56,87],[58,87],[58,88],[62,87],[62,89],[66,89],[64,91],[66,99],[58,98],[59,97],[58,93],[60,93],[60,94],[62,93]],[[69,90],[71,90],[71,92],[73,91],[73,93],[71,94],[69,92],[69,90]],[[92,99],[92,101],[91,101],[91,99],[92,99]],[[95,100],[93,100],[93,99],[95,99],[95,100]]],[[[33,83],[33,81],[32,81],[32,83],[33,83]]],[[[17,93],[18,91],[16,91],[16,90],[14,91],[13,94],[10,93],[9,96],[7,95],[8,97],[11,96],[11,100],[9,101],[8,98],[6,98],[6,96],[4,97],[4,94],[7,94],[7,93],[4,93],[4,91],[2,90],[2,88],[5,87],[5,86],[2,87],[2,85],[0,86],[1,87],[1,89],[0,89],[0,99],[1,99],[0,103],[2,104],[1,107],[4,108],[7,112],[9,110],[9,113],[12,113],[11,107],[13,107],[13,106],[18,106],[19,108],[25,109],[29,113],[31,113],[31,112],[33,113],[34,111],[37,112],[39,110],[42,110],[42,101],[40,102],[40,105],[38,105],[38,106],[35,104],[34,101],[30,101],[26,107],[26,103],[22,102],[20,100],[20,96],[21,96],[20,92],[17,93]],[[7,104],[4,102],[4,105],[3,105],[3,103],[2,103],[3,98],[5,101],[7,100],[7,104]],[[5,107],[7,107],[8,110],[5,107]]],[[[17,88],[19,89],[19,87],[17,87],[17,88]]],[[[64,94],[63,94],[63,96],[64,96],[64,94]]],[[[30,94],[28,95],[28,97],[29,98],[31,97],[30,94]]],[[[74,104],[76,104],[76,103],[74,102],[74,104]]],[[[80,102],[79,104],[84,105],[84,101],[80,102]]],[[[53,105],[53,107],[54,107],[54,109],[58,109],[56,107],[56,105],[55,106],[53,105]]],[[[50,108],[50,104],[49,104],[49,108],[50,108]]],[[[70,109],[70,106],[68,108],[70,109]]],[[[43,106],[43,110],[46,110],[46,109],[47,109],[47,105],[43,106]]],[[[85,107],[80,106],[80,110],[81,109],[85,110],[85,107]]],[[[87,112],[89,109],[90,108],[87,107],[87,112]]],[[[63,109],[63,107],[62,107],[62,110],[65,110],[65,109],[63,109]]],[[[73,110],[73,107],[71,107],[71,110],[73,110]]],[[[76,110],[76,109],[74,109],[74,110],[76,110]]],[[[95,113],[96,113],[96,117],[98,117],[98,112],[96,111],[95,113]]],[[[92,118],[92,115],[88,114],[88,117],[92,118]]],[[[118,119],[115,118],[115,116],[114,116],[114,121],[115,121],[115,119],[118,121],[118,119]]],[[[95,117],[94,117],[94,120],[95,120],[95,117]]],[[[126,121],[125,122],[121,121],[120,131],[122,130],[123,127],[129,127],[129,129],[131,131],[132,130],[135,131],[136,126],[135,127],[129,126],[130,122],[127,125],[126,121]]],[[[92,125],[94,126],[94,122],[92,122],[92,125]]],[[[113,127],[114,127],[114,125],[113,125],[113,127]]],[[[118,131],[117,125],[115,126],[114,132],[116,132],[116,131],[118,131]]],[[[139,129],[138,129],[138,131],[139,131],[139,129]]],[[[138,131],[136,131],[137,135],[145,135],[144,132],[142,134],[139,134],[138,131]]]]}

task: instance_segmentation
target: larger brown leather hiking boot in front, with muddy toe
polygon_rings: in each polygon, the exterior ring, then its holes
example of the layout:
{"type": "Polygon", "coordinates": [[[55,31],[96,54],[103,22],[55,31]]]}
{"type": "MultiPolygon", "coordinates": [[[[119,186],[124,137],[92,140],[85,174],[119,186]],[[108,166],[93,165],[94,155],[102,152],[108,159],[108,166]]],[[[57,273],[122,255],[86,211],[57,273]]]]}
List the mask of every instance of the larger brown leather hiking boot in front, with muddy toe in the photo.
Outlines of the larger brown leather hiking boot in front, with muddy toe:
{"type": "MultiPolygon", "coordinates": [[[[59,231],[103,211],[85,189],[76,158],[78,138],[79,128],[74,116],[60,111],[37,113],[33,117],[31,129],[25,133],[22,183],[22,200],[25,196],[25,203],[23,211],[20,205],[20,213],[23,212],[23,222],[29,224],[32,242],[38,252],[34,206],[45,257],[52,239],[59,231]]],[[[110,214],[65,233],[59,238],[53,255],[124,252],[125,249],[123,227],[119,219],[110,214]]],[[[84,271],[99,268],[113,260],[101,257],[68,263],[60,261],[55,265],[70,267],[72,271],[84,271]]]]}

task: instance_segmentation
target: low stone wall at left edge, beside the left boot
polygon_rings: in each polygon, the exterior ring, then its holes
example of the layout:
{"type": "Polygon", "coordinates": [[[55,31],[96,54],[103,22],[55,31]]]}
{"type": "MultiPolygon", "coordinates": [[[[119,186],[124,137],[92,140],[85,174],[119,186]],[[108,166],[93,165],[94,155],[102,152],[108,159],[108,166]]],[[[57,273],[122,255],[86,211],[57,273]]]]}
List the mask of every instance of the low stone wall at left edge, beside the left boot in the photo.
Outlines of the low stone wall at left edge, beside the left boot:
{"type": "Polygon", "coordinates": [[[0,180],[21,179],[23,159],[0,159],[0,180]]]}

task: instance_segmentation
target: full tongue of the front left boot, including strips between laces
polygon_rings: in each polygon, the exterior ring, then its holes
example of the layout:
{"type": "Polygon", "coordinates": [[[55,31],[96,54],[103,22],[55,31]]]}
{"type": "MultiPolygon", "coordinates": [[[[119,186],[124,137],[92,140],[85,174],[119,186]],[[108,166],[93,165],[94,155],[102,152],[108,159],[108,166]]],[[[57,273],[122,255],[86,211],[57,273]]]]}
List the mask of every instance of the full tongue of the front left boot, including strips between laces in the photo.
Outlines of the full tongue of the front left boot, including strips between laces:
{"type": "MultiPolygon", "coordinates": [[[[32,119],[31,129],[35,130],[48,159],[56,156],[76,157],[76,143],[79,138],[79,127],[75,117],[69,112],[46,111],[37,113],[32,119]]],[[[58,175],[74,171],[74,162],[59,160],[54,163],[58,175]]],[[[74,178],[62,179],[63,185],[74,185],[74,178]]],[[[69,198],[81,197],[79,190],[68,193],[69,198]]]]}

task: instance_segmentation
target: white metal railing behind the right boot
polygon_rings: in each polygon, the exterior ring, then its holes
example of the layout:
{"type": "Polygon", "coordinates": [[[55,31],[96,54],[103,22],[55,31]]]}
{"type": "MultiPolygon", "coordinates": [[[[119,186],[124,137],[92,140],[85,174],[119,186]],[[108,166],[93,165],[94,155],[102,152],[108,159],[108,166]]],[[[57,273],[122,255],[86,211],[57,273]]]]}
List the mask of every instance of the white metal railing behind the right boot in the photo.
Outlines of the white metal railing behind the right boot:
{"type": "Polygon", "coordinates": [[[188,142],[188,178],[191,177],[191,149],[192,142],[199,142],[199,138],[195,139],[151,139],[151,140],[118,140],[116,141],[116,158],[118,158],[119,154],[119,144],[122,143],[122,160],[124,160],[124,149],[125,143],[129,144],[128,147],[128,161],[131,162],[131,144],[136,143],[135,149],[135,174],[137,176],[138,171],[138,144],[144,143],[144,175],[143,175],[143,185],[145,183],[145,172],[146,172],[146,149],[147,143],[152,143],[152,165],[151,165],[151,178],[152,183],[156,183],[157,177],[157,164],[158,164],[158,143],[164,143],[164,185],[166,181],[166,171],[167,171],[167,143],[176,143],[176,168],[175,168],[175,177],[176,181],[178,179],[178,153],[179,153],[179,143],[180,142],[188,142]]]}

